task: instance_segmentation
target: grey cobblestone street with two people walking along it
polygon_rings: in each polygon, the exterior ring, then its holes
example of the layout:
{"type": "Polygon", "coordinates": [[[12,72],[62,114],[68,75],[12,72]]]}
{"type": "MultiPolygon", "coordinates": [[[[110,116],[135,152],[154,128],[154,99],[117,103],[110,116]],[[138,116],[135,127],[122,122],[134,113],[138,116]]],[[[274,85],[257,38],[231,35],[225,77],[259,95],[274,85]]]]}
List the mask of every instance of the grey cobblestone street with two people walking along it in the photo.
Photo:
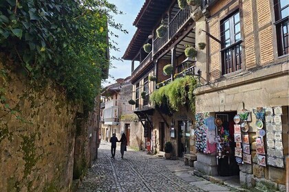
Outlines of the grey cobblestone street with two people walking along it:
{"type": "Polygon", "coordinates": [[[100,143],[96,160],[78,192],[89,191],[234,191],[193,175],[193,168],[180,160],[165,160],[146,152],[127,149],[111,159],[110,143],[100,143]]]}

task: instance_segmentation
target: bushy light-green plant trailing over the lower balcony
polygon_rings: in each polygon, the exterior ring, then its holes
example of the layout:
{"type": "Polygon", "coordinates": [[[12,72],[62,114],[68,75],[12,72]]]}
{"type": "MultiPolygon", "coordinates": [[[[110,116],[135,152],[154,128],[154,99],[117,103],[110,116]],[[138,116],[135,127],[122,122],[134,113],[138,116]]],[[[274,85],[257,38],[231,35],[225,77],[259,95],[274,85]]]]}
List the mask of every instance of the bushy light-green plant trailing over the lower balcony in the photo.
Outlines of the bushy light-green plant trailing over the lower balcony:
{"type": "Polygon", "coordinates": [[[150,100],[161,106],[167,101],[171,110],[179,111],[180,107],[189,105],[192,112],[195,111],[195,95],[193,90],[196,86],[196,80],[192,76],[180,77],[173,82],[162,86],[151,94],[150,100]]]}

